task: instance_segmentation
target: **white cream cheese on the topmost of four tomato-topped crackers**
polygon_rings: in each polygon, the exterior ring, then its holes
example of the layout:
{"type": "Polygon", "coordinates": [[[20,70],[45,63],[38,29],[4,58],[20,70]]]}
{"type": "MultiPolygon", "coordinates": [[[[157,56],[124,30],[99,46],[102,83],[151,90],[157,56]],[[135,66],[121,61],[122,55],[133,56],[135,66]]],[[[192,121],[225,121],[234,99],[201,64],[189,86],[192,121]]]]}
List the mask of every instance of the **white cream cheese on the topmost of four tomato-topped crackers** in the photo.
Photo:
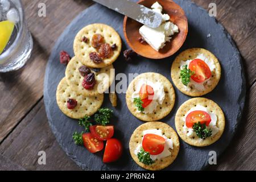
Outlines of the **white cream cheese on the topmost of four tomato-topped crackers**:
{"type": "MultiPolygon", "coordinates": [[[[197,55],[197,57],[195,59],[203,60],[208,65],[211,72],[213,72],[214,69],[216,68],[213,60],[210,59],[210,57],[204,55],[203,53],[197,55]]],[[[183,69],[184,65],[188,65],[188,67],[189,67],[189,64],[191,63],[191,61],[192,60],[180,61],[180,69],[183,69]]],[[[205,80],[204,82],[201,82],[201,83],[197,83],[197,82],[193,81],[192,78],[190,78],[189,84],[187,86],[184,85],[184,87],[187,91],[191,90],[191,86],[194,86],[195,89],[197,89],[199,91],[204,91],[205,90],[205,84],[208,84],[208,85],[211,84],[210,78],[208,78],[207,80],[205,80]]]]}

